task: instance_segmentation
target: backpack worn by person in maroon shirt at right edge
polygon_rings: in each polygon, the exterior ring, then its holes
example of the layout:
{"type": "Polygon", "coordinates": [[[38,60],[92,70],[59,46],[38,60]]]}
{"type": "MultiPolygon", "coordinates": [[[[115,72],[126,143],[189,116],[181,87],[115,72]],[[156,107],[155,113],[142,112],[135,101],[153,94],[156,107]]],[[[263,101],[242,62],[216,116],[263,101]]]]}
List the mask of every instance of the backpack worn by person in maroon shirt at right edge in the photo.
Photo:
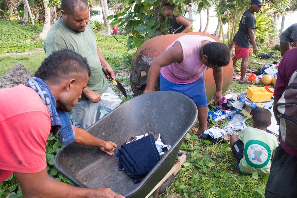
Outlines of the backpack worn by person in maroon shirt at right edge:
{"type": "Polygon", "coordinates": [[[276,105],[282,141],[297,150],[297,70],[276,105]]]}

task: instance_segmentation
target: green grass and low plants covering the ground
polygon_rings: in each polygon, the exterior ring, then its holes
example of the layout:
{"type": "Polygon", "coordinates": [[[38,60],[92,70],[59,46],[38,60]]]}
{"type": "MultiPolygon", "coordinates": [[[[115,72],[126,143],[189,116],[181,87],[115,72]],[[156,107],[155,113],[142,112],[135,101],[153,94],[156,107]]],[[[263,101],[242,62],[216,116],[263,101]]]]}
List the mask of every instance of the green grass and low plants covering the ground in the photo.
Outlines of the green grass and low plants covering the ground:
{"type": "MultiPolygon", "coordinates": [[[[0,29],[0,48],[2,46],[3,49],[5,48],[5,51],[12,53],[4,54],[4,50],[0,51],[0,78],[19,62],[22,62],[29,71],[35,72],[46,57],[42,49],[43,41],[34,41],[34,37],[38,34],[39,29],[34,29],[30,26],[22,29],[23,26],[16,23],[7,24],[1,22],[0,25],[1,29],[4,30],[16,28],[18,31],[26,33],[23,34],[25,35],[24,37],[19,33],[18,37],[12,37],[13,33],[10,35],[0,29]],[[28,45],[23,45],[22,41],[28,45]],[[17,52],[23,53],[15,54],[17,52]]],[[[112,36],[98,34],[97,45],[114,70],[117,70],[119,67],[129,68],[127,63],[136,49],[127,52],[127,47],[120,43],[127,43],[126,38],[121,36],[116,38],[119,42],[112,36]]],[[[270,64],[273,61],[275,60],[251,57],[249,58],[248,69],[256,71],[257,68],[263,67],[259,63],[270,64]]],[[[240,61],[238,61],[237,66],[240,67],[240,61]]],[[[229,93],[241,94],[246,92],[250,86],[238,84],[237,81],[233,80],[228,91],[229,93]]],[[[222,128],[226,121],[218,123],[218,126],[222,128]]],[[[247,123],[251,125],[251,120],[248,120],[247,123]]],[[[264,197],[268,175],[258,176],[257,173],[240,175],[234,167],[236,158],[230,150],[229,143],[219,142],[216,145],[211,145],[209,141],[198,139],[195,135],[198,127],[198,125],[194,126],[192,131],[187,134],[181,147],[182,150],[189,151],[189,159],[178,172],[173,185],[159,197],[264,197]]],[[[66,178],[57,173],[53,168],[53,157],[59,150],[56,138],[50,136],[48,141],[49,144],[46,148],[48,171],[57,180],[68,182],[66,178]]],[[[14,177],[5,183],[0,183],[0,197],[5,197],[11,191],[17,192],[17,196],[22,197],[14,177]]]]}

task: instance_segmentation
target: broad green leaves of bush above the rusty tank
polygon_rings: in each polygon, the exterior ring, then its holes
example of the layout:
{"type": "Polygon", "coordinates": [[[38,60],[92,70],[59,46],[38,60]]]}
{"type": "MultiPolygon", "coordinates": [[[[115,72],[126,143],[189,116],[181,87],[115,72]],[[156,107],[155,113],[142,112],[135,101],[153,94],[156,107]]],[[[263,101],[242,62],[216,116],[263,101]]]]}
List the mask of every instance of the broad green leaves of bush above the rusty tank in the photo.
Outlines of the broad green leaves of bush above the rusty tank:
{"type": "MultiPolygon", "coordinates": [[[[189,10],[185,2],[185,0],[170,0],[171,4],[175,3],[179,5],[179,8],[189,10]]],[[[155,10],[162,10],[163,8],[161,9],[160,6],[163,3],[166,2],[164,0],[124,0],[123,4],[128,4],[124,12],[108,16],[108,20],[113,19],[110,26],[118,24],[119,32],[125,31],[125,36],[129,34],[127,40],[128,50],[140,47],[140,45],[152,37],[160,36],[160,29],[162,29],[163,34],[167,31],[168,20],[165,20],[165,24],[161,24],[157,21],[159,20],[158,17],[154,18],[155,10]]],[[[174,14],[180,12],[177,8],[174,9],[174,14]]]]}

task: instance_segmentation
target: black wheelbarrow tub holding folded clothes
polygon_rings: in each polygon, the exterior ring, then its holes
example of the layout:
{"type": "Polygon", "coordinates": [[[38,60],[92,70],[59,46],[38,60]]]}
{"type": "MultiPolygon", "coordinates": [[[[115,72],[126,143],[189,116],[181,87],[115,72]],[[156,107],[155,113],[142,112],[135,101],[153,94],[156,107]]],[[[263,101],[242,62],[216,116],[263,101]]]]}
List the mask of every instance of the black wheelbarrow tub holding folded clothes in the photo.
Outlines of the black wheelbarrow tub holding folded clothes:
{"type": "Polygon", "coordinates": [[[55,167],[74,184],[86,188],[110,187],[124,197],[146,197],[175,164],[181,143],[197,119],[195,103],[172,91],[157,91],[129,99],[94,123],[87,131],[118,148],[124,141],[148,131],[161,134],[171,149],[149,174],[134,184],[125,171],[118,170],[119,158],[99,148],[70,144],[55,157],[55,167]]]}

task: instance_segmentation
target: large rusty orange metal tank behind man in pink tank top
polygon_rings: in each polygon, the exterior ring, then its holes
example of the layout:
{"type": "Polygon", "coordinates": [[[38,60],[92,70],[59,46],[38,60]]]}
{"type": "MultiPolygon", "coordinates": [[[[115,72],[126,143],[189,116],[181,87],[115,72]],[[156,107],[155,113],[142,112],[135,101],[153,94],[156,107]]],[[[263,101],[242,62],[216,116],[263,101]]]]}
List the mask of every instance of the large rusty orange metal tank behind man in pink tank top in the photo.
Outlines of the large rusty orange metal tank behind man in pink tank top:
{"type": "MultiPolygon", "coordinates": [[[[160,53],[164,52],[166,48],[173,43],[178,37],[184,35],[202,35],[214,39],[217,42],[221,42],[216,37],[211,36],[210,34],[205,34],[202,32],[190,32],[190,33],[180,33],[180,34],[167,34],[154,37],[144,42],[138,50],[136,50],[130,68],[130,83],[135,96],[142,94],[145,85],[146,78],[148,75],[149,67],[151,62],[157,57],[160,53]]],[[[230,62],[227,66],[223,67],[224,77],[223,77],[223,89],[222,94],[224,94],[232,81],[233,78],[233,62],[232,57],[230,56],[230,62]]],[[[211,102],[211,99],[214,97],[216,91],[216,84],[214,82],[214,76],[212,69],[208,69],[205,72],[205,87],[208,103],[211,102]]],[[[160,78],[158,78],[155,85],[155,90],[160,90],[160,78]]]]}

